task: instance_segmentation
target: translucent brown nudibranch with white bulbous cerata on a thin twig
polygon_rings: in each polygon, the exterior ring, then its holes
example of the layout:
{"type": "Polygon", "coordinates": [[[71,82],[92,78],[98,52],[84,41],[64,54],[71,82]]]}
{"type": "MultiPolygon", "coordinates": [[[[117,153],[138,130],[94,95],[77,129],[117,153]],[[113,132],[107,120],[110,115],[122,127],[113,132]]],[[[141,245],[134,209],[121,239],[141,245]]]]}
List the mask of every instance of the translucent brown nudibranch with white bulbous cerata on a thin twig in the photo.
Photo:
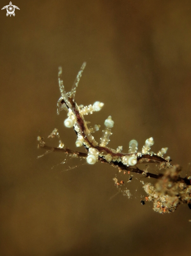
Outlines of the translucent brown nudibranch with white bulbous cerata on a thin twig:
{"type": "Polygon", "coordinates": [[[141,151],[138,151],[138,142],[133,139],[129,142],[128,153],[122,152],[122,146],[117,147],[117,149],[112,149],[108,147],[110,142],[110,136],[112,135],[112,128],[114,126],[114,121],[112,117],[109,116],[104,122],[104,129],[100,142],[97,142],[92,133],[100,129],[100,125],[94,125],[94,127],[88,127],[89,122],[85,120],[84,116],[92,114],[93,112],[99,112],[103,103],[96,101],[93,105],[83,106],[77,105],[75,101],[76,89],[85,69],[86,62],[81,66],[80,71],[76,77],[73,87],[70,92],[65,91],[63,80],[62,80],[62,68],[59,67],[58,71],[58,84],[59,90],[61,91],[61,97],[57,102],[57,114],[61,110],[66,110],[67,118],[64,120],[64,125],[67,128],[73,127],[76,135],[76,147],[84,146],[88,151],[87,163],[95,164],[98,160],[104,160],[108,163],[113,163],[115,165],[121,166],[135,166],[139,163],[145,162],[156,162],[156,163],[169,163],[170,157],[163,158],[168,148],[162,148],[158,153],[151,152],[151,146],[154,144],[152,137],[145,141],[145,145],[142,147],[141,151]]]}

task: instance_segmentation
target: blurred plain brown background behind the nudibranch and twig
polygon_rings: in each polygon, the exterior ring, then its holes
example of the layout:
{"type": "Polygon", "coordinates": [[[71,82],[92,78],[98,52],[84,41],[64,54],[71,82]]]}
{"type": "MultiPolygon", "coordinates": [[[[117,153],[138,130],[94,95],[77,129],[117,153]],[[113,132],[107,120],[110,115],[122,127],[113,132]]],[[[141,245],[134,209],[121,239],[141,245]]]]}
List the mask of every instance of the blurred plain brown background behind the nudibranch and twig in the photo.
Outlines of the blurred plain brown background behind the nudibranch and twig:
{"type": "Polygon", "coordinates": [[[69,91],[87,61],[76,101],[104,102],[86,119],[103,127],[112,115],[109,146],[127,152],[137,139],[140,149],[152,136],[152,150],[169,147],[182,175],[191,175],[190,0],[13,4],[20,8],[15,17],[6,17],[6,9],[0,14],[0,254],[190,255],[187,205],[160,215],[140,204],[142,177],[126,184],[128,199],[117,194],[117,169],[109,165],[63,165],[61,153],[37,159],[44,153],[37,136],[46,138],[55,127],[75,149],[74,131],[63,126],[66,113],[56,115],[57,70],[62,65],[69,91]]]}

